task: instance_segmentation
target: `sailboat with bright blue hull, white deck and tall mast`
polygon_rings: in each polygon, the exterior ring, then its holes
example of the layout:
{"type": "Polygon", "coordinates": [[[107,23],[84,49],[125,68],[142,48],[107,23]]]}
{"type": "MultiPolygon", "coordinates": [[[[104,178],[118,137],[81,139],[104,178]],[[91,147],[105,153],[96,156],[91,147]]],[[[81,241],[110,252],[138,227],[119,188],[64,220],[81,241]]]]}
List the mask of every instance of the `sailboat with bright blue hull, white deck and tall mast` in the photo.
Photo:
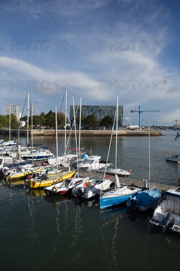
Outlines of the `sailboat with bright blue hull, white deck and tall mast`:
{"type": "MultiPolygon", "coordinates": [[[[137,193],[141,192],[140,188],[136,188],[133,186],[122,186],[120,185],[120,181],[118,175],[116,174],[117,168],[117,144],[118,144],[118,96],[117,96],[117,108],[116,108],[116,163],[115,163],[115,186],[108,190],[107,192],[101,191],[99,203],[100,209],[113,207],[121,203],[125,203],[132,197],[134,197],[137,193]]],[[[114,122],[115,124],[115,122],[114,122]]],[[[114,125],[113,125],[114,129],[114,125]]],[[[104,176],[105,176],[104,172],[104,176]]],[[[104,178],[103,178],[104,181],[104,178]]]]}

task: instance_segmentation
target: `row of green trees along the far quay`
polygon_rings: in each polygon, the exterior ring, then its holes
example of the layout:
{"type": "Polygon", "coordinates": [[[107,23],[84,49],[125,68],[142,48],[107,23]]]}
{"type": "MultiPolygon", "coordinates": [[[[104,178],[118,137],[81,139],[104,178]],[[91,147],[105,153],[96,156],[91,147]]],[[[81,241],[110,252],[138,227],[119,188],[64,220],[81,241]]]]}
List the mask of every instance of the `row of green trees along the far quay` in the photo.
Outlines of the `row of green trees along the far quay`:
{"type": "MultiPolygon", "coordinates": [[[[58,128],[62,129],[65,126],[65,114],[57,113],[58,128]]],[[[28,116],[24,116],[20,121],[25,121],[26,125],[23,129],[27,129],[28,116]]],[[[80,118],[76,118],[76,125],[79,126],[80,118]]],[[[66,124],[69,120],[66,118],[66,124]]],[[[11,129],[18,129],[18,120],[14,114],[11,114],[11,129]]],[[[45,114],[41,112],[40,115],[33,115],[32,118],[33,128],[40,126],[55,128],[56,127],[56,113],[51,110],[45,114]]],[[[31,126],[31,118],[29,117],[29,127],[31,126]]],[[[113,126],[113,119],[110,116],[105,116],[100,122],[97,120],[95,114],[88,116],[87,118],[81,117],[81,128],[82,129],[93,129],[97,127],[105,127],[109,129],[113,126]]],[[[9,115],[0,115],[0,130],[9,128],[9,115]]],[[[21,128],[22,129],[22,128],[21,128]]]]}

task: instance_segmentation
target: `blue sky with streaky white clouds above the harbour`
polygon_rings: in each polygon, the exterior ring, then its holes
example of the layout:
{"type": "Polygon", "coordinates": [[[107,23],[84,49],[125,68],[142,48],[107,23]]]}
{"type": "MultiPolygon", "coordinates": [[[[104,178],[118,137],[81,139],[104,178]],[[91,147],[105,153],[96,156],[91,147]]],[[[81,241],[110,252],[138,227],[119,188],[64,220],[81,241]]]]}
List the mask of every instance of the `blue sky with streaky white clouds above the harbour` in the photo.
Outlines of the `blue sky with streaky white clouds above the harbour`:
{"type": "Polygon", "coordinates": [[[67,89],[67,115],[118,95],[126,125],[139,106],[142,125],[180,120],[179,0],[1,0],[0,13],[0,115],[27,115],[28,91],[35,115],[64,112],[67,89]]]}

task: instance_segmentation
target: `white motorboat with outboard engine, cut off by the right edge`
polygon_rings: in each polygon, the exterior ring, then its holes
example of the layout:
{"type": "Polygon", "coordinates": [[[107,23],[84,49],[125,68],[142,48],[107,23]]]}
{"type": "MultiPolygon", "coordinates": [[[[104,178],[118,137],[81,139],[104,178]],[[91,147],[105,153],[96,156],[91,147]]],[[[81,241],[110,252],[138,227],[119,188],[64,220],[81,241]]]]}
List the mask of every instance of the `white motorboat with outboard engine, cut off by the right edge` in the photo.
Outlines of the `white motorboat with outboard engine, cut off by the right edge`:
{"type": "Polygon", "coordinates": [[[164,193],[150,219],[150,223],[163,228],[163,232],[170,229],[180,233],[180,190],[169,189],[164,193]]]}

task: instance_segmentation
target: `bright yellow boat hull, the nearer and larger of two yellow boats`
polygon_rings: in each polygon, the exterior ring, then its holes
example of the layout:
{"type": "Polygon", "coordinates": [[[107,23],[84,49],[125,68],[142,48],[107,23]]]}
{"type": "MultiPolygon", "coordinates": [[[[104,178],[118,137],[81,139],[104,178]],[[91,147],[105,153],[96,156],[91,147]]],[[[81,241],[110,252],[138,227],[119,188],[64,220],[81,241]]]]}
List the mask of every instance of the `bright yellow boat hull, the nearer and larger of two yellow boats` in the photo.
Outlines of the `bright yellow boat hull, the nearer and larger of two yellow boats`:
{"type": "Polygon", "coordinates": [[[64,179],[71,178],[75,172],[76,172],[76,170],[73,170],[70,172],[68,171],[67,174],[64,174],[64,175],[59,174],[59,176],[56,176],[56,177],[51,176],[52,178],[47,179],[47,180],[42,180],[42,181],[34,181],[33,179],[30,179],[30,180],[28,180],[28,184],[29,184],[30,188],[39,188],[39,187],[50,186],[54,183],[61,182],[64,179]]]}

